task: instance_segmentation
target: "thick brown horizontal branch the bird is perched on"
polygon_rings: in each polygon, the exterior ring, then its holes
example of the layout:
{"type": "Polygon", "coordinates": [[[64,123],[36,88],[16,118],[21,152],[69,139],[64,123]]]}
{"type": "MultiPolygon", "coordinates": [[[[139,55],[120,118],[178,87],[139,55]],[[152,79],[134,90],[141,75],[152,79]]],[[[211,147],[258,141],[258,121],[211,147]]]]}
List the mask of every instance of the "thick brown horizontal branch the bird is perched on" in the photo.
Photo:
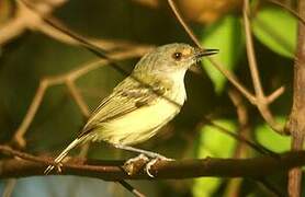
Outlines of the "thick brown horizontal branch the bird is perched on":
{"type": "MultiPolygon", "coordinates": [[[[0,146],[0,152],[20,158],[1,161],[0,178],[44,175],[45,167],[48,164],[54,164],[50,158],[34,157],[12,150],[5,146],[0,146]]],[[[155,175],[156,179],[202,176],[259,178],[275,173],[287,172],[290,169],[303,164],[305,164],[305,151],[298,151],[279,154],[276,158],[206,158],[201,160],[158,161],[151,166],[150,173],[155,175]]],[[[63,164],[61,173],[53,172],[50,174],[89,176],[105,181],[151,179],[145,170],[143,170],[144,165],[145,161],[137,161],[134,165],[134,171],[137,173],[128,175],[124,171],[124,161],[71,159],[69,162],[63,164]]]]}

